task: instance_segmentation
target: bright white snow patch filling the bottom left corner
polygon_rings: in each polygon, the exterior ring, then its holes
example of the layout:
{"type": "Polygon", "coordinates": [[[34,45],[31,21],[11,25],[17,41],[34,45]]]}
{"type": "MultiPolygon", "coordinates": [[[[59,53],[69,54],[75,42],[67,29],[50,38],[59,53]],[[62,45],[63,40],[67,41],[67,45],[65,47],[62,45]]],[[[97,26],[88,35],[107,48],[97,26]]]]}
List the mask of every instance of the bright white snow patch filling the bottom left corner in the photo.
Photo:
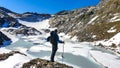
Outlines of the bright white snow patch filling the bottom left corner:
{"type": "Polygon", "coordinates": [[[21,68],[23,63],[29,61],[31,58],[21,55],[14,54],[4,61],[0,61],[0,67],[2,68],[21,68]]]}

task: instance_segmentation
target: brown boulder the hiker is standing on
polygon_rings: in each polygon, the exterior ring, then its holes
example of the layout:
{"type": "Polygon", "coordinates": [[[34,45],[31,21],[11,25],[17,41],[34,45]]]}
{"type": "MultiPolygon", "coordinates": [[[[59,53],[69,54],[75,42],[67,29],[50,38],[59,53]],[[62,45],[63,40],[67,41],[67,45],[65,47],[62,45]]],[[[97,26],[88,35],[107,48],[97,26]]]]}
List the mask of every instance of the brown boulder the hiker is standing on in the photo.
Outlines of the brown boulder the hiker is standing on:
{"type": "Polygon", "coordinates": [[[37,58],[31,60],[28,63],[25,63],[22,68],[73,68],[73,67],[37,58]]]}

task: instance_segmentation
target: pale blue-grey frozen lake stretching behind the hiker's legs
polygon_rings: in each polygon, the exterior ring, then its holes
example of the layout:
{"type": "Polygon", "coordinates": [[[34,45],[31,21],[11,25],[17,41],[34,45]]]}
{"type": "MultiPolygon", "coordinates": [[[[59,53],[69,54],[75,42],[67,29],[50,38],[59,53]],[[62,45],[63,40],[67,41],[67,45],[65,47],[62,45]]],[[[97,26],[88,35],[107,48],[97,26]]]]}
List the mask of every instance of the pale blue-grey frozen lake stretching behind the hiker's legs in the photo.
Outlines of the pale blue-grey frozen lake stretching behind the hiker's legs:
{"type": "MultiPolygon", "coordinates": [[[[89,47],[89,46],[87,46],[89,47]]],[[[11,50],[19,50],[22,52],[25,52],[34,58],[42,58],[42,59],[47,59],[49,60],[50,54],[51,54],[51,47],[46,46],[46,45],[35,45],[33,41],[24,41],[23,39],[18,40],[17,42],[7,46],[6,48],[11,49],[11,50]],[[33,47],[46,47],[48,50],[37,50],[37,51],[32,51],[31,49],[33,47]]],[[[94,49],[94,48],[93,48],[94,49]]],[[[55,61],[61,62],[62,63],[62,52],[57,52],[55,56],[55,61]]],[[[71,65],[73,67],[77,68],[102,68],[102,66],[95,61],[84,57],[82,55],[74,55],[72,53],[64,53],[64,58],[63,58],[63,63],[71,65]]]]}

